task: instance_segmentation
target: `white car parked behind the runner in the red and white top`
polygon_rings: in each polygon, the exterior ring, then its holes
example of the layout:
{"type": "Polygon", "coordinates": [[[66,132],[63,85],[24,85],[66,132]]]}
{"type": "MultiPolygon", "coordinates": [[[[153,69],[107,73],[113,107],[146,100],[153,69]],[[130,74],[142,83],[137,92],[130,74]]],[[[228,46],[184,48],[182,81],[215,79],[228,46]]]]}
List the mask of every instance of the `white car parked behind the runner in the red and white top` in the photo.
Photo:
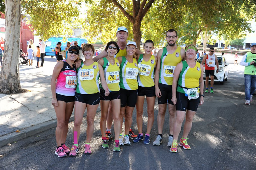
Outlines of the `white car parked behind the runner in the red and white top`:
{"type": "MultiPolygon", "coordinates": [[[[215,63],[214,81],[224,84],[224,81],[228,80],[228,72],[229,72],[228,65],[229,65],[229,63],[226,62],[225,57],[223,57],[223,56],[217,56],[217,59],[218,59],[218,63],[219,63],[219,72],[216,73],[217,66],[215,63]]],[[[202,63],[202,60],[203,60],[203,56],[199,57],[197,59],[197,62],[202,63]]],[[[203,80],[205,81],[205,67],[203,67],[203,80]]],[[[209,81],[211,81],[211,78],[209,79],[209,81]]]]}

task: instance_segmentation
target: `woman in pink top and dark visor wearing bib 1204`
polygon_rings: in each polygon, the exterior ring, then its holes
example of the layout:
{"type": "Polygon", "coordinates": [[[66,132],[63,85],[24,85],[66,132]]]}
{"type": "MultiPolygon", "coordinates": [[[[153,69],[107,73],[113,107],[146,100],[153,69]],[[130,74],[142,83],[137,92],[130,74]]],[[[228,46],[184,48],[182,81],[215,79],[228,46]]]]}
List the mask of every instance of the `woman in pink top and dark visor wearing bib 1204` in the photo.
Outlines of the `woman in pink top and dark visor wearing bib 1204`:
{"type": "Polygon", "coordinates": [[[55,65],[51,79],[52,105],[57,117],[55,131],[57,149],[55,154],[58,157],[67,156],[70,152],[69,148],[65,145],[65,141],[68,134],[69,118],[74,108],[77,76],[73,64],[78,60],[78,56],[78,48],[75,46],[70,47],[67,60],[61,60],[55,65]],[[57,83],[55,83],[56,79],[57,83]]]}

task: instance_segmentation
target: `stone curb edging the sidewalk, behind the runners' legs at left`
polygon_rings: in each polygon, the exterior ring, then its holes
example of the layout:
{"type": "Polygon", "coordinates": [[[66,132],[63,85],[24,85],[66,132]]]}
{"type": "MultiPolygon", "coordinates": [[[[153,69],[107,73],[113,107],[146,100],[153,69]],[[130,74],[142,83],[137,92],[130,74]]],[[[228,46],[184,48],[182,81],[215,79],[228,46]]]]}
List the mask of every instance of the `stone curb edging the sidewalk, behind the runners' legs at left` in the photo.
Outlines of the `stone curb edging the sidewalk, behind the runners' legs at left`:
{"type": "MultiPolygon", "coordinates": [[[[96,112],[100,111],[100,105],[98,106],[96,112]]],[[[85,117],[87,115],[87,111],[84,113],[85,117]]],[[[71,115],[69,122],[74,121],[75,117],[74,115],[71,115]]],[[[21,139],[24,139],[26,137],[35,135],[37,133],[46,131],[48,129],[54,128],[57,126],[57,119],[49,120],[47,122],[35,125],[35,126],[30,126],[28,128],[24,128],[20,130],[19,133],[17,132],[12,132],[6,135],[3,135],[0,137],[0,147],[7,145],[8,143],[13,143],[14,141],[18,141],[21,139]]]]}

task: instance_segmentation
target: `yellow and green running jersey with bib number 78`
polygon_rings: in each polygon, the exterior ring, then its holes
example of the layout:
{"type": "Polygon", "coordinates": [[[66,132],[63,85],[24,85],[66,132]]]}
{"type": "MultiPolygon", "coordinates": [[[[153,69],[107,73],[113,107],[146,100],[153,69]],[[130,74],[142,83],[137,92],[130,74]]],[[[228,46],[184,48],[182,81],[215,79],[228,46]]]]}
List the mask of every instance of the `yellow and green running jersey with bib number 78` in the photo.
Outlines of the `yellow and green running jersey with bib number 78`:
{"type": "MultiPolygon", "coordinates": [[[[106,58],[103,58],[103,61],[104,61],[104,64],[102,68],[104,70],[104,77],[106,79],[106,83],[108,84],[109,90],[119,91],[120,90],[120,86],[119,86],[120,64],[118,60],[115,58],[114,65],[110,64],[110,62],[106,58]]],[[[103,89],[101,85],[100,85],[100,88],[103,89]]]]}

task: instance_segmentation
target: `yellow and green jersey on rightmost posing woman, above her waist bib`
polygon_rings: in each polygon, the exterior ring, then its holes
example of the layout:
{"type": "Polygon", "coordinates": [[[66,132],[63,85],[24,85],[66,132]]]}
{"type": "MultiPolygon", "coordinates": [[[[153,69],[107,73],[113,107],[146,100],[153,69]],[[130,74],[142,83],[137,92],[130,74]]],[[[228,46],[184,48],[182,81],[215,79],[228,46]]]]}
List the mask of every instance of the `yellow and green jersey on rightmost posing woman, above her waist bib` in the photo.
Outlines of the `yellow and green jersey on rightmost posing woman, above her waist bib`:
{"type": "MultiPolygon", "coordinates": [[[[199,79],[201,77],[201,67],[200,63],[196,62],[196,66],[191,68],[188,66],[186,61],[182,62],[182,70],[178,80],[177,91],[181,93],[187,93],[186,88],[198,88],[199,87],[199,79]],[[185,87],[185,88],[182,88],[185,87]]],[[[198,88],[199,92],[199,88],[198,88]]]]}

